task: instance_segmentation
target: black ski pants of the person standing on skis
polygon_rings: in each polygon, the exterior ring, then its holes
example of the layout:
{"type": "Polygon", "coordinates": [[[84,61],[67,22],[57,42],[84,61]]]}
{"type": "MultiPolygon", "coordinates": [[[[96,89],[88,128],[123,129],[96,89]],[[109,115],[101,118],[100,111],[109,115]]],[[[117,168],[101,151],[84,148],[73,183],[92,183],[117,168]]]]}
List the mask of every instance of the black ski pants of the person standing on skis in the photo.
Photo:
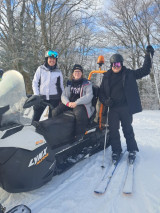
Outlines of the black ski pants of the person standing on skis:
{"type": "Polygon", "coordinates": [[[134,137],[132,120],[132,115],[129,113],[127,106],[110,108],[108,115],[108,124],[109,138],[113,152],[122,151],[119,133],[120,122],[127,143],[127,151],[139,151],[137,142],[134,137]]]}

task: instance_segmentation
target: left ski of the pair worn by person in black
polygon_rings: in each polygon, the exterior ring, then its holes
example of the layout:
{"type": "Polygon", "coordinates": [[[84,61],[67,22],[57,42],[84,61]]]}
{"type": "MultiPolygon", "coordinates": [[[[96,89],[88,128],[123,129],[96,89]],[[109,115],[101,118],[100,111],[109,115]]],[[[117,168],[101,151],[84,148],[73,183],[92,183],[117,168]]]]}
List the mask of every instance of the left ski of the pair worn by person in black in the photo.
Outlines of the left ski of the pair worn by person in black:
{"type": "Polygon", "coordinates": [[[126,152],[126,150],[124,152],[121,153],[121,156],[119,158],[119,160],[117,162],[113,162],[109,171],[106,171],[106,173],[104,174],[104,176],[102,177],[100,183],[98,184],[98,186],[96,187],[96,189],[94,190],[94,192],[96,194],[104,194],[108,188],[108,185],[111,181],[111,178],[114,175],[114,172],[119,164],[119,162],[121,161],[124,153],[126,152]]]}

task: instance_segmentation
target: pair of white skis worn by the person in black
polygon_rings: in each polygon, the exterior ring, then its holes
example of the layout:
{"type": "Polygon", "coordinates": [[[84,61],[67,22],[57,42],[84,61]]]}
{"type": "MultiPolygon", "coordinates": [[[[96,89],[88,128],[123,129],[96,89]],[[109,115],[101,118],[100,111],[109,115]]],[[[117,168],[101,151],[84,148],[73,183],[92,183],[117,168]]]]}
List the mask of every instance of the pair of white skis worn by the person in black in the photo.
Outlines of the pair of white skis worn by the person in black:
{"type": "MultiPolygon", "coordinates": [[[[102,177],[102,179],[100,180],[98,186],[96,187],[96,189],[94,190],[94,192],[96,194],[104,194],[109,186],[109,183],[116,171],[116,168],[118,167],[123,155],[124,155],[125,151],[121,154],[120,159],[115,162],[112,163],[111,167],[109,168],[108,171],[106,171],[106,173],[104,174],[104,176],[102,177]]],[[[132,194],[133,191],[133,176],[134,176],[134,161],[130,161],[127,162],[127,175],[126,175],[126,179],[125,179],[125,184],[123,187],[123,193],[124,194],[132,194]]]]}

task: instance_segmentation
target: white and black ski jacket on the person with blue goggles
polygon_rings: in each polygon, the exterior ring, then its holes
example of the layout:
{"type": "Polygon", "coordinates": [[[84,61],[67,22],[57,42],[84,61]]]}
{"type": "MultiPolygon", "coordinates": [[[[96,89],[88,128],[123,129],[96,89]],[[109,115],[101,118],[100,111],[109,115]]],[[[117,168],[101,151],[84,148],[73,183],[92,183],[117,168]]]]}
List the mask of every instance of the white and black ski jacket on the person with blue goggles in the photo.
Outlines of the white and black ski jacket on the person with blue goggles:
{"type": "Polygon", "coordinates": [[[51,72],[46,66],[39,66],[32,81],[34,95],[45,95],[46,100],[50,99],[50,95],[58,95],[56,86],[58,77],[60,77],[60,88],[63,92],[63,75],[61,70],[56,68],[51,72]]]}

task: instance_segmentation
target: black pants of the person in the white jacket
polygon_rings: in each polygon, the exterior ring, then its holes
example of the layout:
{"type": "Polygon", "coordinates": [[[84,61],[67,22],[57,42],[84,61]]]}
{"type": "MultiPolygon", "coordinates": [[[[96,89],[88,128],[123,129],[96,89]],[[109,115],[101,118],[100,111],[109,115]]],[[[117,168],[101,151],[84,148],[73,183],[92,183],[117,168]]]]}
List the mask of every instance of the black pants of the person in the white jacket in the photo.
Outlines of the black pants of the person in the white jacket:
{"type": "MultiPolygon", "coordinates": [[[[60,99],[50,99],[50,100],[45,100],[45,102],[48,102],[49,104],[52,105],[53,108],[55,108],[56,106],[58,106],[58,104],[60,103],[60,99]]],[[[45,110],[46,106],[34,106],[34,115],[33,115],[33,121],[39,121],[41,118],[41,115],[43,114],[44,110],[45,110]]],[[[52,117],[52,109],[50,109],[49,107],[49,118],[52,117]]]]}

